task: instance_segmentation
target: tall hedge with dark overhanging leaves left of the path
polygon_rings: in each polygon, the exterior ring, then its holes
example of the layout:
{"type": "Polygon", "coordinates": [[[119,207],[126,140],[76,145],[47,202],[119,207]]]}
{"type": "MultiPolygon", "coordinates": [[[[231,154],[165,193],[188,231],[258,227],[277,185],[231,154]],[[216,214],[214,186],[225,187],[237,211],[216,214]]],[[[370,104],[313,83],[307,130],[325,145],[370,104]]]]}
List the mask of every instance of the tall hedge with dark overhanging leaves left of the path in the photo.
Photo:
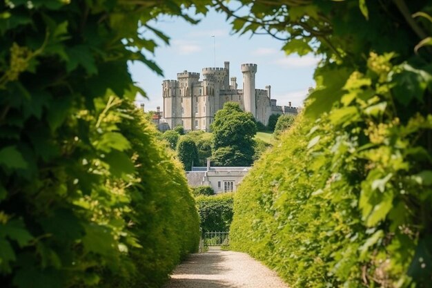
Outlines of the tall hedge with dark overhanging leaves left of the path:
{"type": "Polygon", "coordinates": [[[159,287],[197,247],[181,164],[128,104],[128,61],[161,74],[137,30],[176,3],[0,2],[1,287],[159,287]]]}

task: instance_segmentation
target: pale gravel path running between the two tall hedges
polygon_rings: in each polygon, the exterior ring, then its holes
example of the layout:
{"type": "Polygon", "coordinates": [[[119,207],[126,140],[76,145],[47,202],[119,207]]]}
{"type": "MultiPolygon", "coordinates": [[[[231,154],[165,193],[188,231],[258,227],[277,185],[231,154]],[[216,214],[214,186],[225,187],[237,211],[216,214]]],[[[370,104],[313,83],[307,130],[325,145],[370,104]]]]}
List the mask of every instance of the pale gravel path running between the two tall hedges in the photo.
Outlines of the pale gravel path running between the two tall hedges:
{"type": "Polygon", "coordinates": [[[210,247],[177,266],[164,288],[288,288],[257,260],[245,253],[210,247]]]}

